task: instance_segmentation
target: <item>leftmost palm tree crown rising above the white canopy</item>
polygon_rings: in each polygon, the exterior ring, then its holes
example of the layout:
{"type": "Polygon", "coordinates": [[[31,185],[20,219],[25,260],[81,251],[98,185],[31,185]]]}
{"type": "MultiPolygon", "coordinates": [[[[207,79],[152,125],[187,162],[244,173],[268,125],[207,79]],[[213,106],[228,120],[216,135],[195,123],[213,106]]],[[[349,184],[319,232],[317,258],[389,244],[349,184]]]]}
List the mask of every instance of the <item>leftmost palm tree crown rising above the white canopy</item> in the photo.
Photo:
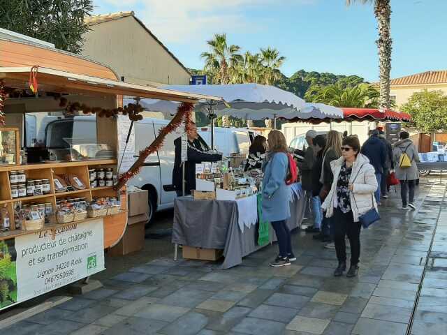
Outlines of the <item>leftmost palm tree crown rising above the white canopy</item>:
{"type": "Polygon", "coordinates": [[[242,56],[239,45],[228,45],[226,34],[215,34],[214,40],[208,40],[210,52],[203,52],[200,57],[205,59],[203,70],[214,78],[214,84],[228,84],[234,76],[235,68],[242,56]]]}

